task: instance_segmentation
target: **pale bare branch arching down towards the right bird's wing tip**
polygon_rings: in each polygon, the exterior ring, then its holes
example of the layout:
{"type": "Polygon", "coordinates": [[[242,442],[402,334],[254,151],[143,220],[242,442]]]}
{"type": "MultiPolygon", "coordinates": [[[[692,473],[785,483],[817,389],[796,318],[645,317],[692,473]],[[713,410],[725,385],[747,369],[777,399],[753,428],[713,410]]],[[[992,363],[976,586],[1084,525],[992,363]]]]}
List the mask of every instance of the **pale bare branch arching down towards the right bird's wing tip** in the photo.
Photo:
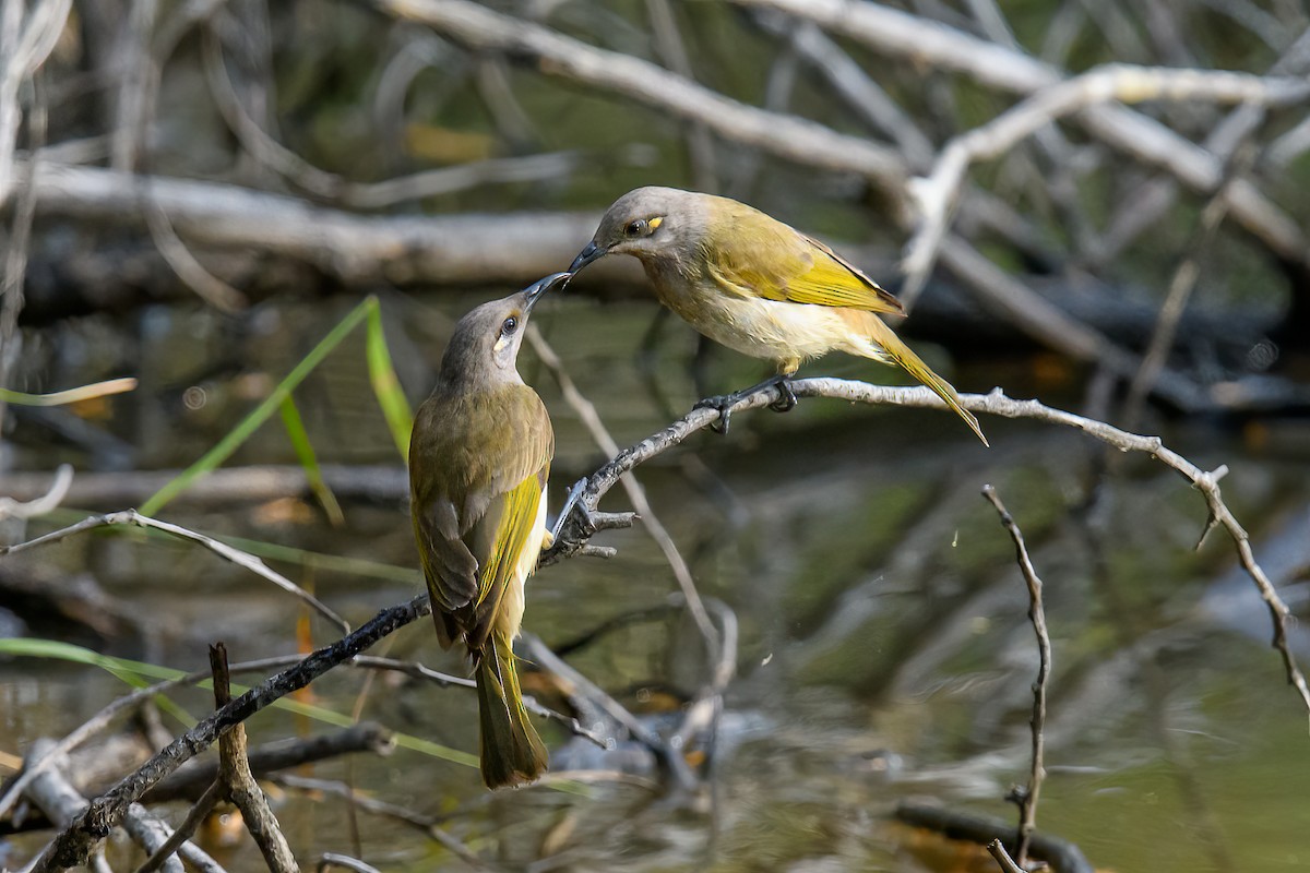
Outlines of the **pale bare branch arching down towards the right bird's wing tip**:
{"type": "Polygon", "coordinates": [[[910,182],[921,223],[907,245],[905,284],[900,293],[903,302],[913,306],[924,289],[950,229],[951,212],[971,164],[1003,154],[1045,124],[1089,106],[1111,101],[1195,99],[1288,106],[1310,99],[1310,82],[1227,71],[1110,64],[1038,92],[986,124],[952,139],[941,151],[931,174],[910,182]]]}

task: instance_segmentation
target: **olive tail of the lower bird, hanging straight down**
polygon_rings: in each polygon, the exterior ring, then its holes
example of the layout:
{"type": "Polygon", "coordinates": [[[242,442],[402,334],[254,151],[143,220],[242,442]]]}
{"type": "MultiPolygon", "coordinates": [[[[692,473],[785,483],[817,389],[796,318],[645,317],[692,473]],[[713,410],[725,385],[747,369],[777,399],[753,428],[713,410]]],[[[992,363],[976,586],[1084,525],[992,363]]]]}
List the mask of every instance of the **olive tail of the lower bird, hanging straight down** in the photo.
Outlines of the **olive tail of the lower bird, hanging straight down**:
{"type": "Polygon", "coordinates": [[[528,721],[514,666],[514,645],[493,631],[478,661],[482,781],[487,788],[531,783],[546,770],[546,749],[528,721]]]}

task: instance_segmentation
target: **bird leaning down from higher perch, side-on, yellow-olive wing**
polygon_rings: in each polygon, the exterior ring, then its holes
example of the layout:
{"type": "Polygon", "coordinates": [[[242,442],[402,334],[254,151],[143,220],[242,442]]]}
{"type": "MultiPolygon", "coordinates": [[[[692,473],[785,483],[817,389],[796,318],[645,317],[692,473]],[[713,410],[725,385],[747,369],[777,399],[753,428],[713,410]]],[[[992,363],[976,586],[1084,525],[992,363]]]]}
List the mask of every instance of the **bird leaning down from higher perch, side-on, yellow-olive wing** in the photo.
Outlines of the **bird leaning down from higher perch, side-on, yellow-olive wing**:
{"type": "MultiPolygon", "coordinates": [[[[629,191],[605,212],[596,236],[569,268],[607,254],[642,262],[660,302],[710,339],[772,360],[779,410],[795,406],[787,386],[800,361],[842,351],[897,364],[933,389],[986,445],[977,419],[878,313],[900,301],[832,249],[744,203],[677,188],[629,191]]],[[[714,398],[722,429],[727,407],[753,391],[714,398]]]]}

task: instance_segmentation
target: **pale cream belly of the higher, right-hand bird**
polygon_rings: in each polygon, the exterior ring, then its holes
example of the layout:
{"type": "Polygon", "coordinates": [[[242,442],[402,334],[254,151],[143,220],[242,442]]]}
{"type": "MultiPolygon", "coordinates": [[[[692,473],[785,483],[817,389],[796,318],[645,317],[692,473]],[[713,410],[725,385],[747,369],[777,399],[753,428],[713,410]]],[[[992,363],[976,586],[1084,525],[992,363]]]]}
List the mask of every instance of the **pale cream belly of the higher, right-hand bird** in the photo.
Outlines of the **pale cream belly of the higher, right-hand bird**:
{"type": "Polygon", "coordinates": [[[779,363],[820,357],[834,349],[869,356],[867,332],[857,331],[850,322],[850,315],[865,313],[722,292],[693,296],[662,287],[656,291],[664,305],[696,330],[743,355],[779,363]]]}

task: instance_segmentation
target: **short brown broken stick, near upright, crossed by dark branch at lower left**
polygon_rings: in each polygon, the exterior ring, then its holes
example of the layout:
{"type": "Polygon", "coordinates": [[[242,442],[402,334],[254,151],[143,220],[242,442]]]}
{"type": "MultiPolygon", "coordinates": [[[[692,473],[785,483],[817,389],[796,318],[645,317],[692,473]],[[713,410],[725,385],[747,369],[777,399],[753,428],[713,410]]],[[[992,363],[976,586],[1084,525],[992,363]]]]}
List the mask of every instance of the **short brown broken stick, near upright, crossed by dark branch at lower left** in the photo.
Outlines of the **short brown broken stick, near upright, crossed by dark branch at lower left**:
{"type": "MultiPolygon", "coordinates": [[[[210,669],[214,670],[214,707],[221,709],[232,702],[232,677],[228,674],[228,648],[223,643],[210,647],[210,669]]],[[[254,838],[271,873],[299,873],[296,856],[282,835],[278,818],[269,809],[269,798],[250,772],[246,760],[245,724],[237,722],[219,737],[219,781],[228,800],[241,810],[246,830],[254,838]]]]}

